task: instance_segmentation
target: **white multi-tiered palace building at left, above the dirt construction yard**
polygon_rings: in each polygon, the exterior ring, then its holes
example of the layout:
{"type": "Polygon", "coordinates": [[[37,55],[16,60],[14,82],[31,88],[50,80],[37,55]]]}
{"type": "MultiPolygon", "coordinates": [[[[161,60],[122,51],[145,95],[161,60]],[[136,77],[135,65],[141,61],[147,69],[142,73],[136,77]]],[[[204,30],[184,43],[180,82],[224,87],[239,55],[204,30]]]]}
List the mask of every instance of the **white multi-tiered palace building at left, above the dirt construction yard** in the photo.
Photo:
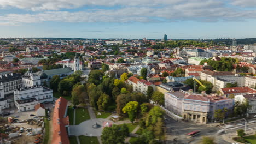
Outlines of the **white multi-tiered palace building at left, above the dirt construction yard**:
{"type": "Polygon", "coordinates": [[[53,101],[53,90],[43,86],[21,87],[14,91],[14,103],[18,112],[34,110],[34,106],[53,101]]]}

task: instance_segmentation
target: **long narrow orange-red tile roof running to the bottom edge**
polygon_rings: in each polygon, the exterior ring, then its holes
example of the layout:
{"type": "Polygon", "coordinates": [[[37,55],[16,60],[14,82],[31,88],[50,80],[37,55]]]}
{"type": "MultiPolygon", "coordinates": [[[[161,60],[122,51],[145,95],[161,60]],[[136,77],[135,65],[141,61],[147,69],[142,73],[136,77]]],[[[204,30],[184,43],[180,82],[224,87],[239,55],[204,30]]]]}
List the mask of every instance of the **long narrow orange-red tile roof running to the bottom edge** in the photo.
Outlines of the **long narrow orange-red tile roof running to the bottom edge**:
{"type": "Polygon", "coordinates": [[[69,125],[68,116],[65,117],[68,101],[65,98],[60,97],[55,102],[55,108],[53,112],[53,139],[51,143],[54,144],[69,144],[68,134],[66,131],[66,125],[69,125]]]}

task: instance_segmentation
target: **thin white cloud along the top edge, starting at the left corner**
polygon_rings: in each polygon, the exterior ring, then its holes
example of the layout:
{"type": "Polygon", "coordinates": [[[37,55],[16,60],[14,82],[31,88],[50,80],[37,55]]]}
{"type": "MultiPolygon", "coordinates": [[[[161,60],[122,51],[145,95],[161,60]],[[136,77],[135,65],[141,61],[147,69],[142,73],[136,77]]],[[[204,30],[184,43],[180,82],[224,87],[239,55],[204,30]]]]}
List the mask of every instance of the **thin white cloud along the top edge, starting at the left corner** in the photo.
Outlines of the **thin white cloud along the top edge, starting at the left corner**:
{"type": "MultiPolygon", "coordinates": [[[[71,9],[83,6],[156,6],[170,5],[186,0],[0,0],[0,7],[16,7],[20,9],[30,9],[33,11],[39,10],[60,10],[63,8],[71,9]]],[[[194,1],[194,0],[192,0],[194,1]]]]}

